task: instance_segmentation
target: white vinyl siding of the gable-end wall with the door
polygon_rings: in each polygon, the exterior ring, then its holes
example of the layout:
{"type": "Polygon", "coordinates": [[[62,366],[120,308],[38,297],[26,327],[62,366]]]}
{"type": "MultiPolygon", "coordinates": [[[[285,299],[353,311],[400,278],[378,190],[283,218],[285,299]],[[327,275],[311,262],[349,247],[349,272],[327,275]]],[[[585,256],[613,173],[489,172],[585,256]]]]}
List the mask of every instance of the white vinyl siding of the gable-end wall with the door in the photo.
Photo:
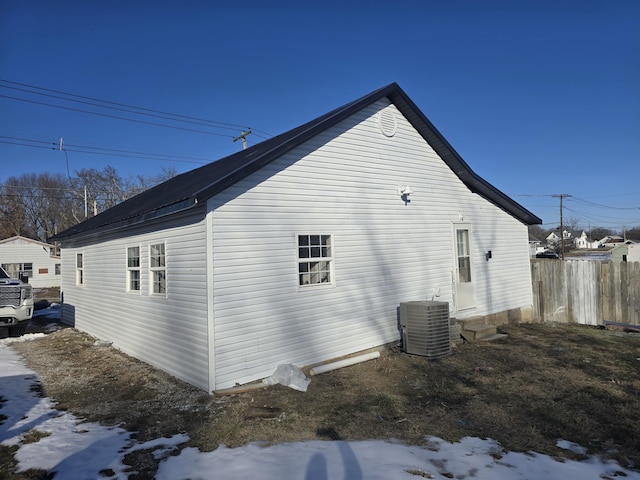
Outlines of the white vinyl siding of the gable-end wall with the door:
{"type": "Polygon", "coordinates": [[[376,114],[386,104],[210,200],[216,388],[268,376],[279,363],[397,341],[403,301],[447,301],[459,318],[531,305],[527,227],[470,192],[394,106],[397,131],[381,134],[376,114]],[[477,302],[456,312],[452,225],[461,219],[473,225],[477,302]],[[299,232],[331,232],[334,288],[300,287],[291,268],[299,232]]]}

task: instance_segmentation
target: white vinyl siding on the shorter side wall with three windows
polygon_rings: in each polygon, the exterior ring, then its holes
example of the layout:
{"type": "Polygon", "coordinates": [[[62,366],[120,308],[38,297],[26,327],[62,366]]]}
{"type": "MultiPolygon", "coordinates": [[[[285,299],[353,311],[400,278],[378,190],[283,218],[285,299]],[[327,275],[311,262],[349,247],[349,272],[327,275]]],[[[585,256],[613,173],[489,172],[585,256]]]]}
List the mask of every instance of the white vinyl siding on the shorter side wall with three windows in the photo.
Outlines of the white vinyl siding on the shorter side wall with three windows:
{"type": "Polygon", "coordinates": [[[75,253],[62,249],[62,278],[67,323],[178,378],[205,390],[208,377],[207,279],[204,220],[183,225],[165,221],[165,229],[127,238],[103,236],[83,246],[84,288],[71,288],[75,253]],[[161,301],[150,295],[149,248],[163,244],[170,292],[161,301]],[[141,294],[127,294],[127,247],[140,245],[141,294]],[[71,274],[71,275],[70,275],[71,274]]]}

